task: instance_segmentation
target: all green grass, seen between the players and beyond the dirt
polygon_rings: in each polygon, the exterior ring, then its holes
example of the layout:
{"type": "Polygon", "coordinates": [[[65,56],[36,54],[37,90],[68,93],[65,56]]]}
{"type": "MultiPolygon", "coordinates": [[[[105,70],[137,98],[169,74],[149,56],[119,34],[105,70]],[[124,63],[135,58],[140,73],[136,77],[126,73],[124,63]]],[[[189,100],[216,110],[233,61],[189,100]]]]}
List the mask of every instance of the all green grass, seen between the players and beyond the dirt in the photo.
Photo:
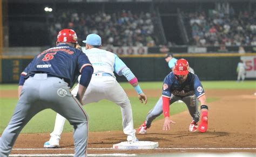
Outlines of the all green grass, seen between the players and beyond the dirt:
{"type": "MultiPolygon", "coordinates": [[[[120,83],[124,89],[133,89],[129,83],[120,83]]],[[[161,82],[140,82],[143,89],[159,89],[161,82]]],[[[205,89],[255,89],[256,81],[245,81],[237,83],[235,81],[207,81],[203,82],[205,89]]],[[[17,84],[0,84],[0,90],[17,90],[17,84]]],[[[132,104],[134,128],[138,128],[146,118],[147,112],[153,108],[160,95],[149,97],[146,105],[138,101],[138,97],[129,97],[132,104]]],[[[218,101],[219,98],[207,97],[207,102],[218,101]]],[[[17,103],[17,98],[1,98],[0,99],[0,133],[3,132],[8,125],[9,120],[14,112],[17,103]]],[[[87,115],[89,116],[90,131],[110,131],[122,130],[122,116],[120,107],[110,101],[100,101],[84,106],[87,115]]],[[[186,111],[187,107],[184,103],[174,103],[170,108],[170,115],[186,111]]],[[[47,109],[39,112],[33,117],[30,122],[24,127],[22,133],[43,133],[51,132],[55,124],[56,112],[47,109]]],[[[163,118],[159,116],[156,120],[163,118]]],[[[65,123],[64,132],[72,131],[72,126],[68,122],[65,123]]]]}

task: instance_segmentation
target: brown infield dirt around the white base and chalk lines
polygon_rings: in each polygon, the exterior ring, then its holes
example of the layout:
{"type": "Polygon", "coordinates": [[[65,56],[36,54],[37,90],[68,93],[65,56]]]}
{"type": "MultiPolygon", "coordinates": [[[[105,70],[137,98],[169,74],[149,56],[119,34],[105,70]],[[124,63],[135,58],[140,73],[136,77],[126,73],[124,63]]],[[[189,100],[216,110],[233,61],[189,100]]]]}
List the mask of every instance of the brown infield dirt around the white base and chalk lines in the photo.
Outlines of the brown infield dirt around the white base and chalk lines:
{"type": "MultiPolygon", "coordinates": [[[[0,91],[1,92],[1,91],[0,91]]],[[[134,95],[133,90],[126,90],[127,95],[134,95]]],[[[156,96],[160,90],[144,90],[145,94],[156,96]]],[[[159,148],[256,148],[256,89],[246,90],[206,90],[206,97],[218,97],[218,101],[208,103],[208,130],[206,133],[188,131],[191,117],[188,111],[171,116],[176,122],[170,131],[162,131],[163,119],[154,121],[147,134],[137,134],[140,141],[155,141],[159,148]]],[[[14,91],[0,93],[2,97],[16,97],[14,91]],[[9,93],[9,94],[8,94],[9,93]]],[[[146,116],[146,115],[145,115],[146,116]]],[[[90,123],[90,122],[89,122],[90,123]]],[[[143,123],[143,122],[142,122],[143,123]]],[[[137,128],[136,128],[137,129],[137,128]]],[[[14,148],[43,148],[48,141],[49,133],[20,134],[14,148]]],[[[111,148],[126,140],[122,131],[89,132],[88,148],[111,148]]],[[[63,133],[60,141],[61,148],[73,148],[72,133],[63,133]]],[[[252,152],[255,149],[151,149],[151,150],[115,150],[89,149],[89,154],[128,153],[128,154],[164,154],[183,152],[252,152]]],[[[73,150],[13,150],[11,154],[66,154],[73,150]]]]}

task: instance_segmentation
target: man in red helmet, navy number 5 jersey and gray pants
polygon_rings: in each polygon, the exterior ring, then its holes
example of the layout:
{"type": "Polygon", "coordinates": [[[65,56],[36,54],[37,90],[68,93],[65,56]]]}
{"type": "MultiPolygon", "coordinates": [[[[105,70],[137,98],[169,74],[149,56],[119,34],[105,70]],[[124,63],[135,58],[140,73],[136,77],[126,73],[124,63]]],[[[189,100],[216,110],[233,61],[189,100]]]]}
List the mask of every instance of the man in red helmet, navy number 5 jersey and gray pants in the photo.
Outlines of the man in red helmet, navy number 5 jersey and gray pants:
{"type": "Polygon", "coordinates": [[[75,48],[75,31],[61,30],[56,45],[35,56],[21,74],[19,100],[0,140],[1,157],[10,154],[18,134],[29,120],[38,112],[49,108],[73,125],[75,156],[87,156],[88,122],[81,102],[93,68],[87,56],[75,48]],[[74,97],[70,88],[79,74],[81,79],[74,97]]]}

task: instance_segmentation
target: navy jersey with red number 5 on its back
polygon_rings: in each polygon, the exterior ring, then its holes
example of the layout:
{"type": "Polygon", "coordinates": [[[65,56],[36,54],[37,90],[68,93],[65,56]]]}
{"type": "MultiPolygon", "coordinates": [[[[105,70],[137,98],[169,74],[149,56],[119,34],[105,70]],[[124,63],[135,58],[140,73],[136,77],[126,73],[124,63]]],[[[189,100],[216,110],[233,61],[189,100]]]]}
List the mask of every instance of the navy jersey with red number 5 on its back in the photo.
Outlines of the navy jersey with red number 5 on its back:
{"type": "Polygon", "coordinates": [[[72,88],[85,66],[92,66],[85,53],[68,44],[60,44],[35,56],[22,75],[28,78],[36,73],[46,73],[63,78],[72,88]]]}

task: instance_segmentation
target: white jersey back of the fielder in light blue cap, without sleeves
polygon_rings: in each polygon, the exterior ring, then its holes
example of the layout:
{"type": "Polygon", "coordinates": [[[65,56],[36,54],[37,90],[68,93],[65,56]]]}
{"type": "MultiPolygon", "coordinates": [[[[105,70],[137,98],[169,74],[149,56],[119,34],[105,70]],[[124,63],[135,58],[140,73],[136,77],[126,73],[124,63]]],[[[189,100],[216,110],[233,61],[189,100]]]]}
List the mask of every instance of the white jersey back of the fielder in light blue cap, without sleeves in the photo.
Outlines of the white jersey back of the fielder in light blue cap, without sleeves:
{"type": "Polygon", "coordinates": [[[91,48],[84,51],[93,66],[93,73],[109,73],[113,75],[114,54],[104,49],[91,48]]]}

